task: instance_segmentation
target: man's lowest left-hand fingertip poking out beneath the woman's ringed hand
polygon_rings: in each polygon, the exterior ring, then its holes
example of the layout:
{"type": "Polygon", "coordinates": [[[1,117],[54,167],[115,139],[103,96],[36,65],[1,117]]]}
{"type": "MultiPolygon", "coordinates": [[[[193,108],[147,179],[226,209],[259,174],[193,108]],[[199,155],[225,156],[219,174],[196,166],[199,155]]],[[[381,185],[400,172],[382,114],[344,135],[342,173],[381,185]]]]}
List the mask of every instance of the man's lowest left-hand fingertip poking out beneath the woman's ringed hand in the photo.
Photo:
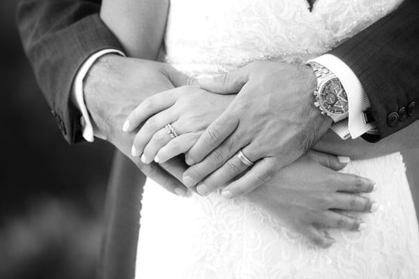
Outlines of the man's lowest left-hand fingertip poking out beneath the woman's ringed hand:
{"type": "Polygon", "coordinates": [[[179,178],[182,177],[181,166],[170,166],[169,169],[172,174],[155,163],[146,165],[138,161],[137,166],[147,177],[156,181],[156,183],[161,185],[170,193],[174,193],[179,196],[186,195],[188,189],[179,181],[179,178]]]}

